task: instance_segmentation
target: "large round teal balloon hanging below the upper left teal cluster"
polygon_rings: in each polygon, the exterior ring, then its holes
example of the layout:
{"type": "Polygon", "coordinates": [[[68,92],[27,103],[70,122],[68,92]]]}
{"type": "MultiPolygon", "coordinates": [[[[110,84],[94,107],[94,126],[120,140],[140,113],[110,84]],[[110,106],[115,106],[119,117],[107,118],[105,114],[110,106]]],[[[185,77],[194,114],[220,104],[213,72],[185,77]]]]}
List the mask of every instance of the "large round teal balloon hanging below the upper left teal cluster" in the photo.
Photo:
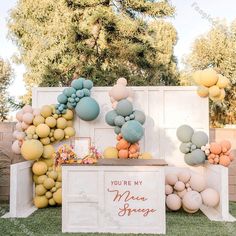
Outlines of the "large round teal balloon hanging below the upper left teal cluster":
{"type": "Polygon", "coordinates": [[[76,105],[75,111],[81,120],[91,121],[98,117],[100,108],[95,99],[84,97],[76,105]]]}

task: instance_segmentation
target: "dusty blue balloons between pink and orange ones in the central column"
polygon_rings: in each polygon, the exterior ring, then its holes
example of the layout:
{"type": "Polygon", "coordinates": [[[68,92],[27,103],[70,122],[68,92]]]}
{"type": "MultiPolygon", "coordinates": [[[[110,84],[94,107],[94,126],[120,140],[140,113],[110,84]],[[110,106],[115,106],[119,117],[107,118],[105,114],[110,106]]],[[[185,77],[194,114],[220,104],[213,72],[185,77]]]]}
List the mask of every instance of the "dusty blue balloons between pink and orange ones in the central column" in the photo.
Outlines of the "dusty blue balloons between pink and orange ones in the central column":
{"type": "MultiPolygon", "coordinates": [[[[126,84],[123,86],[125,89],[126,84]]],[[[129,143],[136,143],[143,137],[144,129],[142,125],[146,117],[142,111],[134,110],[132,102],[127,99],[128,94],[125,96],[120,96],[122,99],[117,101],[114,110],[106,114],[105,120],[108,125],[114,126],[117,135],[121,134],[129,143]]]]}

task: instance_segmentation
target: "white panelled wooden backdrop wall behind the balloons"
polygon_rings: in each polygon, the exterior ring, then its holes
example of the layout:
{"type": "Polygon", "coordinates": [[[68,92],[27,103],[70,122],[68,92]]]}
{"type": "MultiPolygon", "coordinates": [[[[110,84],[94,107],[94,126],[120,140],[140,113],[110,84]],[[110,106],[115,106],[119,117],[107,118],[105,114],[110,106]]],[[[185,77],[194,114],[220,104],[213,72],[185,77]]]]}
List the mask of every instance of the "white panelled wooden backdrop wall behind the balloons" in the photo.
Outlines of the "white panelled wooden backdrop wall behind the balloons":
{"type": "MultiPolygon", "coordinates": [[[[132,87],[134,108],[145,112],[145,135],[141,141],[142,151],[151,152],[154,158],[162,158],[173,165],[185,165],[179,151],[180,142],[176,129],[189,124],[194,129],[209,133],[208,99],[200,98],[196,87],[132,87]]],[[[33,107],[57,103],[57,96],[64,88],[34,88],[33,107]]],[[[105,114],[112,109],[108,91],[110,87],[94,87],[92,97],[101,108],[99,117],[92,122],[75,118],[76,136],[91,137],[99,150],[115,146],[113,128],[105,123],[105,114]]]]}

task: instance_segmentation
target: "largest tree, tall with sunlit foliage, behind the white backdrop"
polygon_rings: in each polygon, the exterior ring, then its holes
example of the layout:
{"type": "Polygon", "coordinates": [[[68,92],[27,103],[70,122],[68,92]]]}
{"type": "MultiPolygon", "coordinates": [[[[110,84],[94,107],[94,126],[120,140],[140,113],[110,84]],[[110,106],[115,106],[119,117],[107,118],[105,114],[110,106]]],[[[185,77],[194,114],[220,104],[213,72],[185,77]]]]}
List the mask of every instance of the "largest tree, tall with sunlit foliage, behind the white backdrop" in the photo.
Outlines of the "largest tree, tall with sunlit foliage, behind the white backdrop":
{"type": "Polygon", "coordinates": [[[126,77],[130,85],[178,83],[176,31],[168,1],[20,0],[9,20],[25,83],[67,86],[84,76],[95,85],[126,77]]]}

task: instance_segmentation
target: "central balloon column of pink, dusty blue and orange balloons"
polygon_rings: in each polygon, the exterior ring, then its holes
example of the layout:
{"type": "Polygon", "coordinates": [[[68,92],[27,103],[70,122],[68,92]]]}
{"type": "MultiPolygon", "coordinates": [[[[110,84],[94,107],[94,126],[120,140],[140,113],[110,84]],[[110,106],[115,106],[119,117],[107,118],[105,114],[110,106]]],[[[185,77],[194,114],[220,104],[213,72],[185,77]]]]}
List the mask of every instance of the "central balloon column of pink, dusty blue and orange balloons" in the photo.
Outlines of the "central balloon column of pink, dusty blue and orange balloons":
{"type": "MultiPolygon", "coordinates": [[[[127,80],[119,78],[109,92],[113,110],[107,112],[106,123],[114,127],[117,134],[117,153],[111,149],[113,158],[138,158],[140,147],[138,141],[143,137],[145,114],[134,110],[132,100],[133,92],[126,87],[127,80]]],[[[106,152],[108,153],[108,152],[106,152]]]]}

